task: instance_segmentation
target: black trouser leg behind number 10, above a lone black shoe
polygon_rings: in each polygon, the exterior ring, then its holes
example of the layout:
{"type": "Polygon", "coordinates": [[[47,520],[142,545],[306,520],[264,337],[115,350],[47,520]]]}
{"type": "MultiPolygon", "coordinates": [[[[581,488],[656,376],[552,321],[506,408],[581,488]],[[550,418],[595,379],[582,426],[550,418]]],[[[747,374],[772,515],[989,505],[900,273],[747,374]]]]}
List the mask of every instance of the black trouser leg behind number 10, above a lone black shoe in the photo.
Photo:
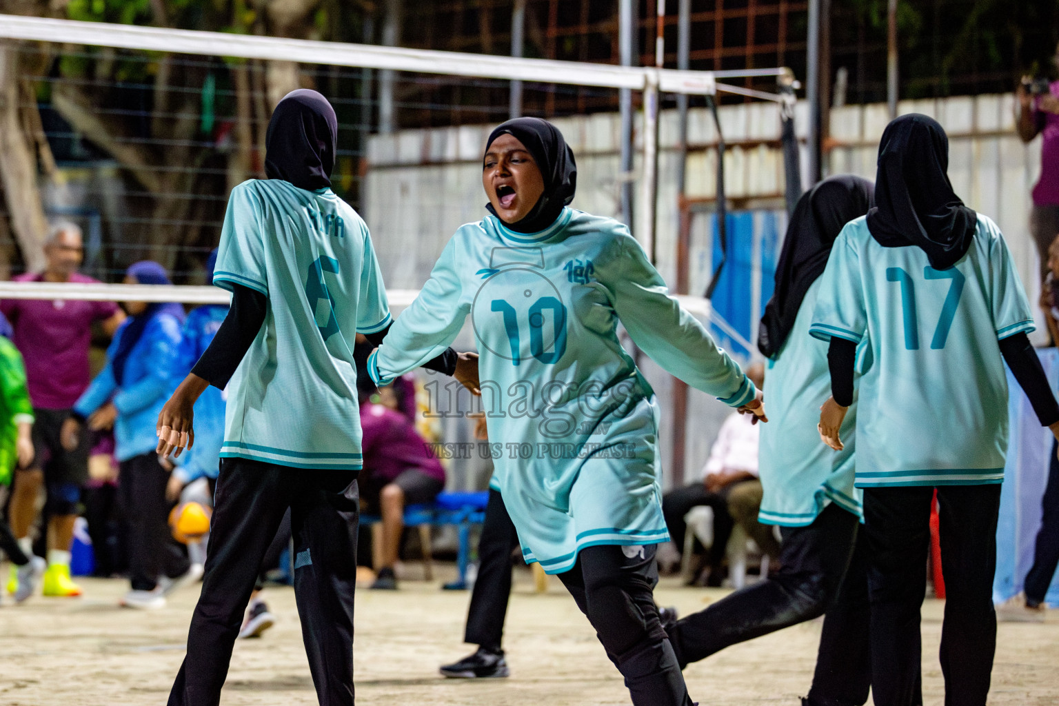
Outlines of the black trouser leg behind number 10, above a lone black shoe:
{"type": "Polygon", "coordinates": [[[517,546],[519,536],[504,507],[504,499],[499,490],[490,488],[482,539],[478,543],[478,579],[467,610],[465,642],[500,649],[507,599],[511,595],[511,550],[517,546]]]}

